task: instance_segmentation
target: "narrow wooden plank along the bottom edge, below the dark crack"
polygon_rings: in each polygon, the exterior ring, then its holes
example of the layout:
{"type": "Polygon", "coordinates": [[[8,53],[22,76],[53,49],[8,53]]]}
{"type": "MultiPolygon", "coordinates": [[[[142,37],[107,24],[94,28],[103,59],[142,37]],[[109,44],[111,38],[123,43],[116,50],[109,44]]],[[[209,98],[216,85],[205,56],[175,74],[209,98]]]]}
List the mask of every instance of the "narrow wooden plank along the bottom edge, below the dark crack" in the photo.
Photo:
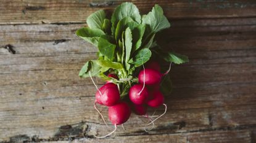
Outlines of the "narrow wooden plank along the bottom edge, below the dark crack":
{"type": "MultiPolygon", "coordinates": [[[[17,140],[21,137],[15,138],[17,140]]],[[[68,138],[67,138],[68,139],[68,138]]],[[[143,136],[108,137],[105,139],[75,139],[74,141],[41,141],[43,143],[68,143],[68,142],[191,142],[191,143],[251,143],[250,131],[207,131],[205,133],[182,133],[182,134],[151,134],[143,136]]]]}

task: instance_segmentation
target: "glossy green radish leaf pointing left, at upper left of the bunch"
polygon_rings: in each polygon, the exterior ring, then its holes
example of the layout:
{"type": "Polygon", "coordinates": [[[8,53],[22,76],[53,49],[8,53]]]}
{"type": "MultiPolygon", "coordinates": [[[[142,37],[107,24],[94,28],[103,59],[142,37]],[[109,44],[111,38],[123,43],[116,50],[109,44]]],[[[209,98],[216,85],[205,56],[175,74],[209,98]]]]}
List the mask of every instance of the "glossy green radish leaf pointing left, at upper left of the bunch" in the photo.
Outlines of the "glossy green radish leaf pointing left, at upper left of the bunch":
{"type": "Polygon", "coordinates": [[[76,30],[76,35],[93,45],[98,44],[99,38],[105,33],[101,29],[81,28],[76,30]]]}

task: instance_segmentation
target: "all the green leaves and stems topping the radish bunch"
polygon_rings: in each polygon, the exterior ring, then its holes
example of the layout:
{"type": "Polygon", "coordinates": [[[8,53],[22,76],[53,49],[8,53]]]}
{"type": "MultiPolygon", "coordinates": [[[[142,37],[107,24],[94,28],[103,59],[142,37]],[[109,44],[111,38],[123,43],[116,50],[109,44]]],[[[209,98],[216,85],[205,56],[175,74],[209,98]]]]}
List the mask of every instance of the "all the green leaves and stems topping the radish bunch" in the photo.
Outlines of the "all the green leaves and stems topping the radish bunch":
{"type": "MultiPolygon", "coordinates": [[[[122,93],[135,81],[136,69],[159,54],[165,61],[181,64],[188,62],[188,57],[175,52],[152,52],[161,50],[154,41],[155,34],[162,29],[170,28],[170,23],[163,15],[163,9],[155,4],[147,15],[139,14],[138,8],[131,2],[124,2],[114,10],[111,20],[106,18],[104,10],[89,15],[88,27],[78,29],[76,35],[99,48],[98,60],[85,63],[79,76],[97,76],[104,80],[113,80],[107,73],[115,72],[120,79],[131,79],[122,82],[122,93]]],[[[163,80],[168,82],[169,80],[163,80]]],[[[119,83],[119,80],[114,80],[119,83]]]]}

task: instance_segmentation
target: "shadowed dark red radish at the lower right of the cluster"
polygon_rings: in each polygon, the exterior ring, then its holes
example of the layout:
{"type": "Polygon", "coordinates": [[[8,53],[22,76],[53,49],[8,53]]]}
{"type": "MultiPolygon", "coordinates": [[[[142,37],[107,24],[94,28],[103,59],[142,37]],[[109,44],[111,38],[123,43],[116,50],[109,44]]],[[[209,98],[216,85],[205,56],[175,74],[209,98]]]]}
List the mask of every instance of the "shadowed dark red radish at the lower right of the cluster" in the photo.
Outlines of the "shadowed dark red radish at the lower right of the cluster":
{"type": "Polygon", "coordinates": [[[147,105],[151,107],[159,107],[163,104],[164,98],[160,91],[155,91],[152,93],[153,99],[147,101],[147,105]]]}

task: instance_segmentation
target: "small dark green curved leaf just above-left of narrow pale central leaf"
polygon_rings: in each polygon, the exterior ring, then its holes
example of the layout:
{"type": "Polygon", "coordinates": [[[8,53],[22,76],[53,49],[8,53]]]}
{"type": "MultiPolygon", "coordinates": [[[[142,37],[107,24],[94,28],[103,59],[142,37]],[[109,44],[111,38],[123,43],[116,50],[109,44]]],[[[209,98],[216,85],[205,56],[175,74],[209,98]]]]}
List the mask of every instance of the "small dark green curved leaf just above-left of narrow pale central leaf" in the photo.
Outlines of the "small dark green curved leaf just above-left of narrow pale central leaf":
{"type": "Polygon", "coordinates": [[[127,23],[133,21],[131,17],[125,17],[122,20],[118,21],[117,29],[115,29],[115,40],[118,41],[120,39],[121,34],[127,28],[127,23]]]}

